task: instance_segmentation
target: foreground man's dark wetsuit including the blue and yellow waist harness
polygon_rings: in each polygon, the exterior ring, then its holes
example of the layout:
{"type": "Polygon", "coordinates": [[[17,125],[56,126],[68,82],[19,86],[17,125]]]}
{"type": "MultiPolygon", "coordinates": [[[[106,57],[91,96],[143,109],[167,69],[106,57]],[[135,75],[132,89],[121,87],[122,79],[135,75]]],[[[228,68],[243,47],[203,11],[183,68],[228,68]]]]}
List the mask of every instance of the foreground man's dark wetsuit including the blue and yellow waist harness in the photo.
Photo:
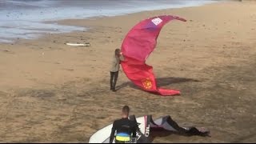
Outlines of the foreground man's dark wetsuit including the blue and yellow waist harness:
{"type": "Polygon", "coordinates": [[[130,141],[130,136],[136,138],[137,124],[134,121],[130,121],[128,118],[121,118],[113,123],[112,131],[110,134],[110,143],[114,140],[114,133],[117,130],[115,137],[115,143],[123,143],[130,141]]]}

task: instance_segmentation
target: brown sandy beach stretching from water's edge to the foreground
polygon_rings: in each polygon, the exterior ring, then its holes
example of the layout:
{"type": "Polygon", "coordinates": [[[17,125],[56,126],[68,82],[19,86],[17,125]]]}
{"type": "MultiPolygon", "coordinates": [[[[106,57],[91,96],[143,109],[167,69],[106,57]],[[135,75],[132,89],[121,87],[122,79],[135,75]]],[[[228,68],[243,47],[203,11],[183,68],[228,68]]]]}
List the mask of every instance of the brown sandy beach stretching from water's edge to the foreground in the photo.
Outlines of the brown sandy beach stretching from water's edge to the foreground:
{"type": "Polygon", "coordinates": [[[256,142],[256,2],[58,23],[90,30],[0,45],[0,142],[88,142],[120,117],[124,105],[136,116],[170,115],[181,126],[211,131],[210,138],[169,134],[153,142],[256,142]],[[154,66],[159,86],[182,95],[138,90],[122,70],[118,91],[110,91],[114,49],[132,26],[162,14],[187,22],[170,22],[162,29],[147,64],[154,66]]]}

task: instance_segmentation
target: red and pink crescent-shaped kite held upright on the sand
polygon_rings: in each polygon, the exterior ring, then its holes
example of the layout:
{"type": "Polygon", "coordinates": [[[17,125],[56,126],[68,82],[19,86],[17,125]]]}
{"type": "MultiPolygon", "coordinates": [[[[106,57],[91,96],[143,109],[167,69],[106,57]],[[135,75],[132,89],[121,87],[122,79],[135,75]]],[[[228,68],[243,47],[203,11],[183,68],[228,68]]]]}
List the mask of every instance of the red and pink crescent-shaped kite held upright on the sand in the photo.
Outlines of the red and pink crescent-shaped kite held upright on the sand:
{"type": "Polygon", "coordinates": [[[153,67],[146,65],[146,59],[154,50],[162,27],[171,20],[186,22],[186,19],[172,15],[162,15],[139,22],[126,35],[122,42],[122,54],[125,61],[122,70],[136,86],[163,96],[180,94],[178,90],[165,90],[157,86],[153,67]]]}

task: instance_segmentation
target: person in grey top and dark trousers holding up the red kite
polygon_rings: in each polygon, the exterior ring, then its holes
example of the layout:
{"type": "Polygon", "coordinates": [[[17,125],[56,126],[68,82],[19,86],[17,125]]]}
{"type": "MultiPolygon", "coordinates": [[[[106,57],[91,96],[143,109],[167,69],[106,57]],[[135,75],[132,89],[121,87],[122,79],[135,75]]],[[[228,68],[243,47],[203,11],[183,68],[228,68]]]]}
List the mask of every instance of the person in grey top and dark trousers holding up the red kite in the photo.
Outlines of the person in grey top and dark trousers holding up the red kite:
{"type": "Polygon", "coordinates": [[[124,60],[124,57],[122,56],[120,49],[114,50],[114,58],[112,59],[112,65],[110,69],[110,90],[112,91],[116,91],[115,85],[118,81],[118,72],[120,69],[119,64],[123,60],[124,60]]]}

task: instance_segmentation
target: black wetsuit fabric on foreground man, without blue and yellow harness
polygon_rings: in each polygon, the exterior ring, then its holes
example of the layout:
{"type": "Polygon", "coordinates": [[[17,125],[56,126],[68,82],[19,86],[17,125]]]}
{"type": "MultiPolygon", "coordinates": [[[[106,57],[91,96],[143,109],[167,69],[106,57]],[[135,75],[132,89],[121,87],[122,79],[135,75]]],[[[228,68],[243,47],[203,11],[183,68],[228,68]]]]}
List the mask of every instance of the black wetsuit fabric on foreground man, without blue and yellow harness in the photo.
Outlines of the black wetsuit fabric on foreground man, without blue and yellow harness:
{"type": "MultiPolygon", "coordinates": [[[[128,118],[121,118],[113,123],[112,131],[110,134],[110,143],[114,140],[114,133],[117,130],[117,134],[127,134],[132,138],[136,138],[137,123],[130,121],[128,118]]],[[[123,143],[122,141],[115,140],[115,143],[123,143]]]]}

